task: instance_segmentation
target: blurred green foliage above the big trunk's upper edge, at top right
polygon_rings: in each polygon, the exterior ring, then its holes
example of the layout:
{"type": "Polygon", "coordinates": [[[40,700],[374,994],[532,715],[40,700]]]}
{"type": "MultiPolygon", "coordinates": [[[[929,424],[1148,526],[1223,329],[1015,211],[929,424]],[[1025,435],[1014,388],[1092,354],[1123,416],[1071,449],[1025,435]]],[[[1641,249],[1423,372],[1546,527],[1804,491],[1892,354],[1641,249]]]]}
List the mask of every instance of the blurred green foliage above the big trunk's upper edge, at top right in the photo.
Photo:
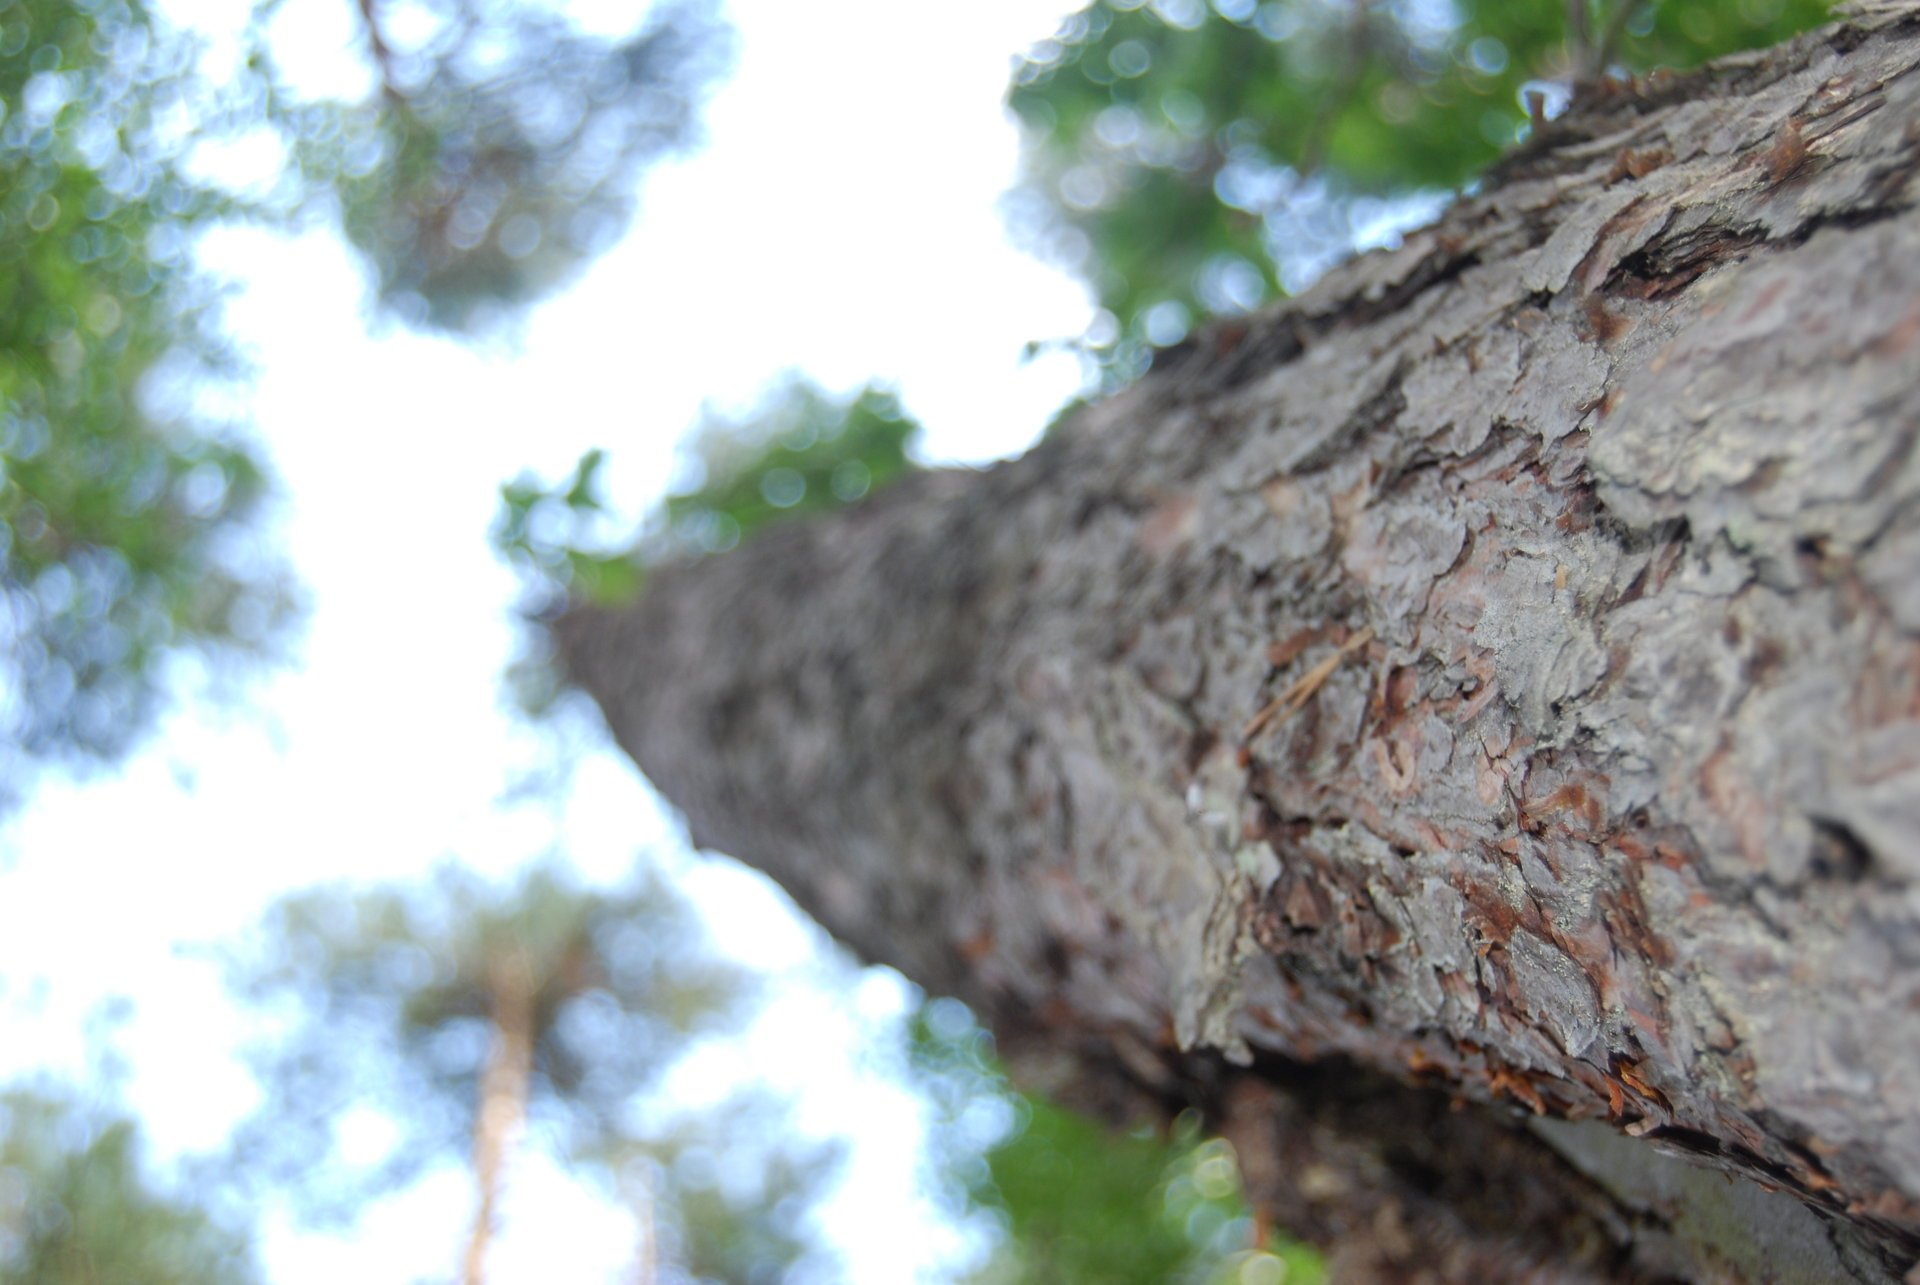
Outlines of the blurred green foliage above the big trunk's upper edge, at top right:
{"type": "Polygon", "coordinates": [[[1094,0],[1029,50],[1020,232],[1083,273],[1121,378],[1526,134],[1528,92],[1690,67],[1826,0],[1094,0]]]}

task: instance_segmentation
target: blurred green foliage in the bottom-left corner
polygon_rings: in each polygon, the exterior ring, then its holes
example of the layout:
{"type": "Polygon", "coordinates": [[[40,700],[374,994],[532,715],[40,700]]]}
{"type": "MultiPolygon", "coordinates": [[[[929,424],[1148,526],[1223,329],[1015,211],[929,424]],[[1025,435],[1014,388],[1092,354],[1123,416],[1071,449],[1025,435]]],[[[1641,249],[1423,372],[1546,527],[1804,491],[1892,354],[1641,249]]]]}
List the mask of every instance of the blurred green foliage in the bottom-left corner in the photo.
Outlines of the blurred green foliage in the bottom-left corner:
{"type": "Polygon", "coordinates": [[[252,1247],[156,1193],[132,1122],[67,1093],[0,1093],[0,1279],[13,1285],[242,1285],[252,1247]]]}

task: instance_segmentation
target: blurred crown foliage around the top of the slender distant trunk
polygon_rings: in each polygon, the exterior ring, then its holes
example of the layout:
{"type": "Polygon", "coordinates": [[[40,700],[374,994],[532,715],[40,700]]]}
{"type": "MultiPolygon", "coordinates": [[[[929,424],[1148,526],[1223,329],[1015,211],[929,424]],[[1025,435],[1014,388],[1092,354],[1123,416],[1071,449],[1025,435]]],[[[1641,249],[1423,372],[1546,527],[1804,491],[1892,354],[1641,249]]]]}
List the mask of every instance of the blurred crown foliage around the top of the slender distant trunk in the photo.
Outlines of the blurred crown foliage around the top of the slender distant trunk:
{"type": "Polygon", "coordinates": [[[234,991],[280,1024],[255,1053],[265,1101],[238,1164],[334,1222],[467,1154],[501,968],[532,983],[530,1112],[563,1151],[616,1133],[745,987],[668,885],[601,893],[543,866],[511,887],[445,866],[424,887],[292,897],[227,962],[234,991]],[[396,1129],[367,1164],[342,1151],[353,1110],[396,1129]]]}

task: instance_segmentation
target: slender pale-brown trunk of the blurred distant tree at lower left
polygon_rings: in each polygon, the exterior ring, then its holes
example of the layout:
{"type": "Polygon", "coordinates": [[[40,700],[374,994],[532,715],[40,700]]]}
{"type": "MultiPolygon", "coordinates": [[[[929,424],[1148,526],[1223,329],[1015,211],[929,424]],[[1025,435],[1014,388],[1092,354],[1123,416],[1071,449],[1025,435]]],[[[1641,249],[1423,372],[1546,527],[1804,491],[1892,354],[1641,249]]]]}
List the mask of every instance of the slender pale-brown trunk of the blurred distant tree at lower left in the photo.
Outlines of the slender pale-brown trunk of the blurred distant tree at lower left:
{"type": "Polygon", "coordinates": [[[524,951],[499,951],[488,960],[493,1045],[480,1072],[480,1101],[474,1104],[474,1224],[461,1268],[465,1285],[482,1285],[486,1279],[507,1152],[526,1120],[534,1079],[534,970],[524,951]]]}

